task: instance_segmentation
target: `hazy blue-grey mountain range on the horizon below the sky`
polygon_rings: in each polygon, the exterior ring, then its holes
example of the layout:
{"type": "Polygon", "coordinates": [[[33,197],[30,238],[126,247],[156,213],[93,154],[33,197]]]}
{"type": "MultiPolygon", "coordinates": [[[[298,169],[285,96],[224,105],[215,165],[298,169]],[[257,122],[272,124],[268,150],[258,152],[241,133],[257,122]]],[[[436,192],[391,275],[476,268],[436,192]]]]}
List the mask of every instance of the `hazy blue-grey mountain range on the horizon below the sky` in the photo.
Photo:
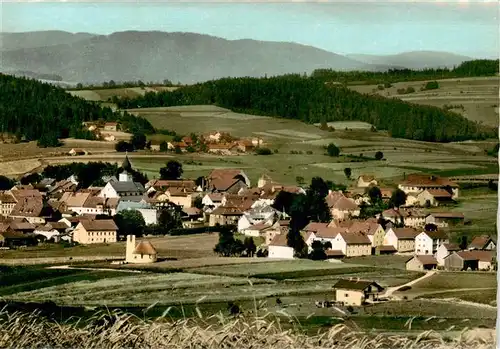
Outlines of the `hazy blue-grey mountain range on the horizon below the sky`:
{"type": "Polygon", "coordinates": [[[320,68],[384,71],[453,66],[470,59],[446,52],[343,56],[296,43],[158,31],[1,33],[0,47],[3,72],[57,76],[74,83],[164,79],[195,83],[222,77],[311,73],[320,68]]]}

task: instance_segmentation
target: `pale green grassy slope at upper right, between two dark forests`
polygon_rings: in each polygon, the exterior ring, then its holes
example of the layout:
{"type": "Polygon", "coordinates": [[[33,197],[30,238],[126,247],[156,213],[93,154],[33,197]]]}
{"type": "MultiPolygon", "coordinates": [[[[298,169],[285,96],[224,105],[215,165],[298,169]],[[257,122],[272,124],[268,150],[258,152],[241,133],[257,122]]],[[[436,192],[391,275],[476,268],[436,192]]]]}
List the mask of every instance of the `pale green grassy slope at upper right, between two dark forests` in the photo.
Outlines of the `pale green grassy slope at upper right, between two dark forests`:
{"type": "Polygon", "coordinates": [[[399,82],[392,87],[379,90],[376,85],[350,86],[351,89],[384,97],[397,97],[416,104],[444,107],[455,106],[451,110],[465,117],[498,126],[498,77],[462,78],[438,80],[439,89],[420,91],[424,81],[399,82]],[[397,90],[413,87],[416,92],[399,95],[397,90]]]}

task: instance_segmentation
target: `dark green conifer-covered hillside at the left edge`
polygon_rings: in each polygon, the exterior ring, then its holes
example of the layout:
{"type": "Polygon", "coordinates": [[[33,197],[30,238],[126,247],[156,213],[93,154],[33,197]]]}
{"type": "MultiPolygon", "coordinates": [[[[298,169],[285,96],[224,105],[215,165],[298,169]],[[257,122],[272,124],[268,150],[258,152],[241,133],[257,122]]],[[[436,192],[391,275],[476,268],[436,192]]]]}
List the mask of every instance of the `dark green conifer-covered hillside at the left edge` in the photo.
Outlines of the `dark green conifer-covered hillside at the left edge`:
{"type": "Polygon", "coordinates": [[[59,138],[91,139],[82,128],[84,121],[121,121],[131,132],[152,132],[142,118],[113,112],[96,103],[73,97],[62,88],[36,80],[0,74],[0,132],[18,139],[39,140],[54,145],[59,138]]]}

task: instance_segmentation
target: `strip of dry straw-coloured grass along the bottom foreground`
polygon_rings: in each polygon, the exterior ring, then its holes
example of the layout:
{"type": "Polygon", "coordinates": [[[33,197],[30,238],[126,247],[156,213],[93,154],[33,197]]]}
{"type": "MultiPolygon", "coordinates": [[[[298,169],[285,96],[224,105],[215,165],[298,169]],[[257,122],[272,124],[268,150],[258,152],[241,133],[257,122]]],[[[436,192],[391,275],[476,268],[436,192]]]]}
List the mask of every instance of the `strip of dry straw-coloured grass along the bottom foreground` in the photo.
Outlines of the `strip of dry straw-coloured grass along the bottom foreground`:
{"type": "MultiPolygon", "coordinates": [[[[166,314],[165,314],[166,315],[166,314]]],[[[56,323],[36,313],[0,312],[2,348],[494,348],[492,330],[470,330],[445,340],[433,331],[416,338],[369,335],[344,325],[307,336],[283,330],[266,317],[169,321],[166,316],[145,321],[123,313],[99,313],[88,321],[56,323]],[[215,323],[215,324],[214,324],[215,323]]]]}

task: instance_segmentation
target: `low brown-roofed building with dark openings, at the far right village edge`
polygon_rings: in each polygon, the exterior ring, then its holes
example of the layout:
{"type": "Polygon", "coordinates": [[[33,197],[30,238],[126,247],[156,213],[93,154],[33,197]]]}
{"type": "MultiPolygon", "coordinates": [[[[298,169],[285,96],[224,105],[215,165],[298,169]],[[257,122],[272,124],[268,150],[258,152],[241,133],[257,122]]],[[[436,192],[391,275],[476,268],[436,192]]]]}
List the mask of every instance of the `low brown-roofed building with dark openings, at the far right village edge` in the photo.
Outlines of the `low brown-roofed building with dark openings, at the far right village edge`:
{"type": "Polygon", "coordinates": [[[496,257],[494,251],[458,251],[444,258],[446,270],[491,270],[496,257]]]}

